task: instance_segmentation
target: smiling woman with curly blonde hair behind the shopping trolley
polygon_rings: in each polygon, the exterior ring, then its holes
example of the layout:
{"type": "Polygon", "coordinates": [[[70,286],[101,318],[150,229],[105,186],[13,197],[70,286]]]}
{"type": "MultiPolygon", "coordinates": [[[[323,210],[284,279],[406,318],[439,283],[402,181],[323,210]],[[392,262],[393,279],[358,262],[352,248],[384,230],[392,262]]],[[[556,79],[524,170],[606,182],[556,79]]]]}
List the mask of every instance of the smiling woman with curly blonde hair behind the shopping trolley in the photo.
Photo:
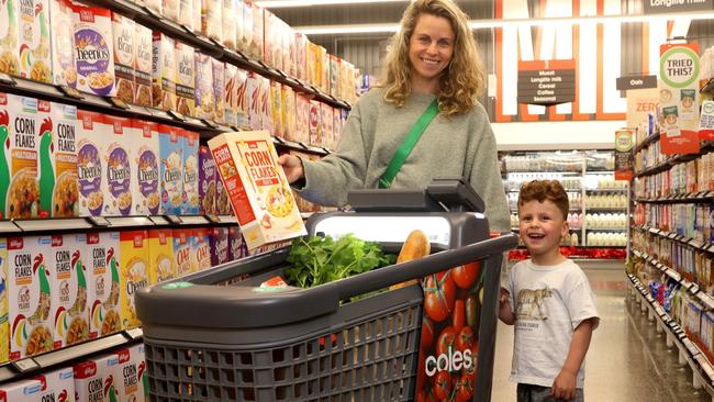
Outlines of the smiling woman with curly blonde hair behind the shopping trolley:
{"type": "Polygon", "coordinates": [[[466,14],[450,0],[416,0],[392,38],[381,87],[355,104],[336,153],[320,161],[283,155],[279,164],[304,199],[344,205],[349,190],[379,187],[404,136],[436,99],[438,115],[389,187],[424,189],[435,177],[465,177],[486,203],[491,231],[510,231],[495,138],[477,101],[483,76],[466,14]]]}

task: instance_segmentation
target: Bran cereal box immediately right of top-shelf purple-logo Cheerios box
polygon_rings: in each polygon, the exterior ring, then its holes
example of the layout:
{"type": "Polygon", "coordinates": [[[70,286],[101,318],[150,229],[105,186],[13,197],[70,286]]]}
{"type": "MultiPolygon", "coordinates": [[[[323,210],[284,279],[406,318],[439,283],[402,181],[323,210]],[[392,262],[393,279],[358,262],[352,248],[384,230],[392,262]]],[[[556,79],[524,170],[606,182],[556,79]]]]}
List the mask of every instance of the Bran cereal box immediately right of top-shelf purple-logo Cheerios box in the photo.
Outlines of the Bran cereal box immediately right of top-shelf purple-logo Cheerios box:
{"type": "Polygon", "coordinates": [[[112,34],[114,36],[114,76],[116,98],[134,103],[136,65],[136,25],[134,20],[112,11],[112,34]]]}

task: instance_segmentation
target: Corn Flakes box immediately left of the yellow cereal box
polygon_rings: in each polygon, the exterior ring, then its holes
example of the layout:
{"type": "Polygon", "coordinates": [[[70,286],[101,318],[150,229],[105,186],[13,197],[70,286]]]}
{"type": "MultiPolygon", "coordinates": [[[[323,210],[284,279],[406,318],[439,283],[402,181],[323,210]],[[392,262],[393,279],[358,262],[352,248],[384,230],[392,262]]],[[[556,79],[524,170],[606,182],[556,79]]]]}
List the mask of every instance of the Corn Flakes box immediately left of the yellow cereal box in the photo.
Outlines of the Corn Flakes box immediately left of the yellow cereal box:
{"type": "Polygon", "coordinates": [[[120,272],[121,242],[119,232],[87,234],[85,264],[89,309],[89,338],[110,335],[122,330],[122,291],[120,272]]]}

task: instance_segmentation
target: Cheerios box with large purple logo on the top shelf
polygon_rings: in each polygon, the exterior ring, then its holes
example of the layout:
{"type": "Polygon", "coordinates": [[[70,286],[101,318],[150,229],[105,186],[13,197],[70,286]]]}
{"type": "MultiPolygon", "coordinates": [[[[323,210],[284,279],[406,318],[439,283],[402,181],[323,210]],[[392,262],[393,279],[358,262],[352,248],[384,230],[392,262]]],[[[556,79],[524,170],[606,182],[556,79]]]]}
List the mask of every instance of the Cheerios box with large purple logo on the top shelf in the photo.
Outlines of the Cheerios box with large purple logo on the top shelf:
{"type": "Polygon", "coordinates": [[[101,97],[116,94],[111,11],[72,2],[77,89],[101,97]]]}

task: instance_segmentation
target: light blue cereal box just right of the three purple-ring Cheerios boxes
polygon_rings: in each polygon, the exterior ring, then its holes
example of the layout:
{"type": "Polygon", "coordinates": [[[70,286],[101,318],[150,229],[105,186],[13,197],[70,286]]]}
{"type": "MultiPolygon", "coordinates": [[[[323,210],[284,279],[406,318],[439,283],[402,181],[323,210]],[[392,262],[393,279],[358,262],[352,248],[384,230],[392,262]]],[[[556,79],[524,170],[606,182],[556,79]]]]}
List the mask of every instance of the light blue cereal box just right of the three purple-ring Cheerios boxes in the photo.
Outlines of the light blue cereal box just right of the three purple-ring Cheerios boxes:
{"type": "Polygon", "coordinates": [[[181,213],[183,194],[183,143],[181,130],[158,125],[159,176],[161,178],[161,210],[165,214],[181,213]]]}

